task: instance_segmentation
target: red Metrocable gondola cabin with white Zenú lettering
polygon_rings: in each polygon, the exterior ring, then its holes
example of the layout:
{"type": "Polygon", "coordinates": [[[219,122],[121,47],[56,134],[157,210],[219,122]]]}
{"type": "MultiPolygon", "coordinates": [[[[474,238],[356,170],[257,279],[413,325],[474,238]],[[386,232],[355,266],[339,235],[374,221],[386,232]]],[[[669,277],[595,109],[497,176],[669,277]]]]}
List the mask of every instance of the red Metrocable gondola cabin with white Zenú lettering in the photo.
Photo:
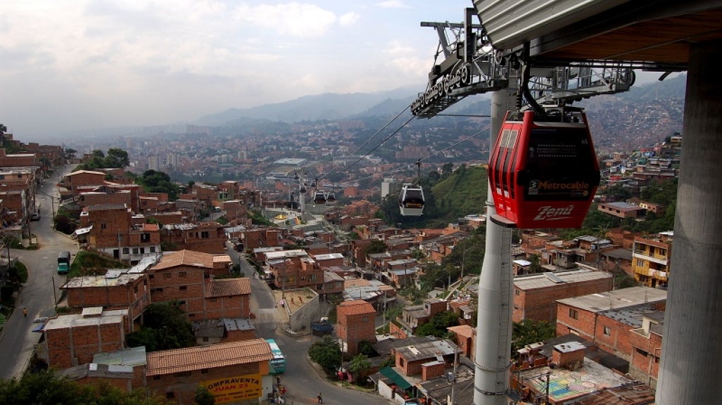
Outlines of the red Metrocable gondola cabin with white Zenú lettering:
{"type": "Polygon", "coordinates": [[[505,227],[581,227],[599,180],[580,109],[507,113],[489,162],[491,219],[505,227]]]}

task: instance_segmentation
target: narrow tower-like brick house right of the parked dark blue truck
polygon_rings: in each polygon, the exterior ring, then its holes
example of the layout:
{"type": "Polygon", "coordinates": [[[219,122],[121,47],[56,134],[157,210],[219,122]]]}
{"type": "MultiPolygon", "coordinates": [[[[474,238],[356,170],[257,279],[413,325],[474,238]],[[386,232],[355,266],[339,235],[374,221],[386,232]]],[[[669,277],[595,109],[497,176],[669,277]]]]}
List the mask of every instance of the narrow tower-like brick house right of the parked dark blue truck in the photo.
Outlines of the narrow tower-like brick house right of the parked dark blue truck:
{"type": "Polygon", "coordinates": [[[355,356],[359,343],[376,343],[376,310],[366,301],[344,301],[336,307],[336,334],[343,341],[344,352],[355,356]]]}

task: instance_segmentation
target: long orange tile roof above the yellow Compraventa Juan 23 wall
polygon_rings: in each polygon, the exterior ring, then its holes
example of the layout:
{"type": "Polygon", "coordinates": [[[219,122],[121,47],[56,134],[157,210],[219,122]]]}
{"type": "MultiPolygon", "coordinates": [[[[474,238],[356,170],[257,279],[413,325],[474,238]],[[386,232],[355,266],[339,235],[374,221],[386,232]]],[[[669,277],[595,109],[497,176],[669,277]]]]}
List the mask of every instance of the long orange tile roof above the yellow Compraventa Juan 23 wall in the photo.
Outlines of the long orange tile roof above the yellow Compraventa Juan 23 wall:
{"type": "Polygon", "coordinates": [[[164,375],[204,368],[243,365],[272,358],[271,347],[264,339],[163,350],[148,353],[146,375],[164,375]]]}

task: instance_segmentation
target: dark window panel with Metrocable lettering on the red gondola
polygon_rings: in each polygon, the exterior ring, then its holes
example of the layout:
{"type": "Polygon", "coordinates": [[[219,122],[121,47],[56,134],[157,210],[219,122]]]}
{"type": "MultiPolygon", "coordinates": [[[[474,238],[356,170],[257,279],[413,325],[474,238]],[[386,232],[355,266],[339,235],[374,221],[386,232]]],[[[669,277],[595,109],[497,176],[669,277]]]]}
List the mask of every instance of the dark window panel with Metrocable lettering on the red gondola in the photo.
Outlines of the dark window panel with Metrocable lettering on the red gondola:
{"type": "Polygon", "coordinates": [[[583,124],[531,129],[526,170],[517,180],[525,186],[528,201],[586,200],[599,184],[595,163],[589,132],[583,124]]]}

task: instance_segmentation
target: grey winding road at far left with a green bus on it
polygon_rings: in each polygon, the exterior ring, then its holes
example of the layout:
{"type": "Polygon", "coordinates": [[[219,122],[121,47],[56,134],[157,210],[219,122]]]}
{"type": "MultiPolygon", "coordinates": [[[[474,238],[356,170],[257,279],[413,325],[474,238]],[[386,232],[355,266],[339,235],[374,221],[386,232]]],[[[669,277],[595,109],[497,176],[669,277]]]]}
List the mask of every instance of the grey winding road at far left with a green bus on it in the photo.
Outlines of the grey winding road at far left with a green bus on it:
{"type": "MultiPolygon", "coordinates": [[[[72,166],[66,167],[64,173],[69,173],[71,169],[72,166]]],[[[54,208],[57,209],[56,183],[57,174],[45,180],[36,196],[36,204],[40,205],[40,221],[30,222],[30,232],[38,238],[40,249],[11,249],[11,256],[17,256],[19,261],[27,266],[28,277],[18,297],[15,311],[0,333],[0,378],[19,378],[27,367],[34,350],[33,344],[40,339],[40,334],[32,332],[32,328],[38,326],[32,321],[41,311],[51,310],[54,297],[60,297],[59,290],[53,295],[53,281],[55,287],[60,287],[65,282],[65,276],[57,274],[58,252],[77,252],[74,240],[51,228],[53,204],[49,196],[56,196],[54,208]],[[23,307],[27,308],[27,318],[22,316],[23,307]]]]}

